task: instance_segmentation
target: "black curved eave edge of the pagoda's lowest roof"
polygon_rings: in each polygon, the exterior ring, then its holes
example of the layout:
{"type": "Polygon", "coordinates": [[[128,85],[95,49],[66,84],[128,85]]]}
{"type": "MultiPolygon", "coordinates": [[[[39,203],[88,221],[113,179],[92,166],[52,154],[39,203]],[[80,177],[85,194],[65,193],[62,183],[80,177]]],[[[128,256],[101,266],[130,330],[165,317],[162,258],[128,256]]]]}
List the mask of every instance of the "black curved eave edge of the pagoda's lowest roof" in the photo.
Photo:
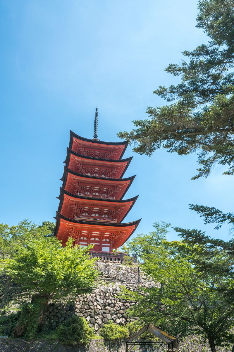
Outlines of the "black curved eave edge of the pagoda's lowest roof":
{"type": "Polygon", "coordinates": [[[133,232],[136,230],[136,228],[138,227],[141,219],[136,220],[136,221],[132,221],[132,222],[126,222],[126,223],[122,223],[122,224],[110,224],[109,222],[102,222],[100,224],[99,221],[86,221],[86,220],[82,220],[82,221],[78,221],[78,220],[71,220],[69,218],[66,218],[66,216],[63,216],[62,214],[60,214],[59,212],[56,212],[56,228],[54,231],[54,236],[57,236],[58,230],[59,230],[59,226],[60,226],[60,220],[65,220],[68,222],[71,222],[73,224],[84,224],[84,225],[97,225],[97,226],[107,226],[107,227],[128,227],[128,226],[135,226],[133,228],[133,231],[131,232],[131,234],[128,236],[128,238],[125,240],[125,242],[129,239],[129,237],[133,234],[133,232]]]}

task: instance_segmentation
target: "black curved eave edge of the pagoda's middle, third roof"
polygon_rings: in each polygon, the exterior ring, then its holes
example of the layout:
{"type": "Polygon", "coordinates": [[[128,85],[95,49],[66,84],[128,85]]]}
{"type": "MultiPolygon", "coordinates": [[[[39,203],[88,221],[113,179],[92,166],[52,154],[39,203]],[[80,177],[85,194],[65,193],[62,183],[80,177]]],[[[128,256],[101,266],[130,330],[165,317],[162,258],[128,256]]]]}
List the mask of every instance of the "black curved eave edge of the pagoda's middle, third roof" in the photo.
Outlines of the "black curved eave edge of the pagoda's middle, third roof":
{"type": "Polygon", "coordinates": [[[99,180],[99,181],[107,181],[109,183],[111,182],[127,182],[128,186],[126,187],[125,191],[123,192],[123,194],[120,197],[120,200],[125,196],[125,194],[127,193],[129,187],[131,186],[131,184],[133,183],[134,178],[136,177],[136,175],[133,175],[131,177],[126,177],[126,178],[108,178],[108,177],[98,177],[98,176],[91,176],[91,175],[83,175],[83,174],[79,174],[78,172],[74,172],[71,169],[68,169],[67,166],[63,166],[63,175],[60,178],[60,181],[62,181],[62,188],[65,188],[66,182],[67,182],[67,176],[68,174],[72,174],[74,176],[78,176],[81,178],[86,178],[87,180],[99,180]]]}

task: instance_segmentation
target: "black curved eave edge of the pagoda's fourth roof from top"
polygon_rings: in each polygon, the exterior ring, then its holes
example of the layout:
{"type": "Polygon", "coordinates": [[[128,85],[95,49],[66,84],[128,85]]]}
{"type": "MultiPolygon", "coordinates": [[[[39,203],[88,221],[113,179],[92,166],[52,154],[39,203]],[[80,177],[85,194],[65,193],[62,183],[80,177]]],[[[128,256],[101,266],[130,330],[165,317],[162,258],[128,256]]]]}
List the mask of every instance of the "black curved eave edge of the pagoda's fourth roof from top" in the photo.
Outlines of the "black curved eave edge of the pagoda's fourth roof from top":
{"type": "MultiPolygon", "coordinates": [[[[130,212],[130,210],[132,209],[132,207],[134,206],[135,204],[135,201],[138,199],[138,196],[135,196],[133,198],[130,198],[130,199],[125,199],[125,200],[116,200],[116,199],[100,199],[100,198],[89,198],[89,197],[84,197],[84,196],[77,196],[77,195],[74,195],[68,191],[66,191],[64,188],[60,187],[60,195],[57,197],[59,199],[59,207],[58,207],[58,213],[60,213],[61,211],[61,208],[62,208],[62,204],[63,204],[63,200],[64,200],[64,195],[67,195],[71,198],[74,198],[74,199],[80,199],[80,200],[88,200],[88,201],[96,201],[97,203],[101,204],[101,203],[120,203],[120,204],[124,204],[124,203],[128,203],[128,202],[132,202],[131,206],[129,207],[128,211],[125,213],[125,215],[121,218],[120,222],[123,221],[123,219],[126,218],[126,216],[128,215],[128,213],[130,212]]],[[[73,221],[73,219],[70,219],[73,221]]],[[[94,222],[92,220],[92,222],[94,222]]]]}

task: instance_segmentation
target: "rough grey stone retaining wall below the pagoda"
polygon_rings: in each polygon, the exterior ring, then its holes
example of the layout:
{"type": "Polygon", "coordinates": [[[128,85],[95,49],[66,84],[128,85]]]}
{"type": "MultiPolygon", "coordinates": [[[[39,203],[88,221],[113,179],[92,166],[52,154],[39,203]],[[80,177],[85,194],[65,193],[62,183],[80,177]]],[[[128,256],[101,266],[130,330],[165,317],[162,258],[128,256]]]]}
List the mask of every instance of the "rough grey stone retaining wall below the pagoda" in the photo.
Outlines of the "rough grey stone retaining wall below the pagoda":
{"type": "MultiPolygon", "coordinates": [[[[143,287],[159,286],[138,269],[138,264],[124,265],[120,262],[97,260],[96,266],[101,275],[93,292],[89,295],[78,296],[73,302],[48,304],[42,322],[43,329],[55,329],[72,314],[84,317],[89,326],[94,327],[95,332],[98,332],[100,327],[109,320],[119,325],[125,325],[126,322],[133,320],[129,320],[126,314],[126,310],[133,302],[122,299],[121,286],[125,286],[131,291],[140,291],[143,287]]],[[[2,282],[2,290],[0,289],[0,302],[4,295],[3,286],[4,282],[2,282]]],[[[10,312],[18,308],[25,300],[31,300],[30,294],[22,292],[20,287],[11,285],[8,292],[10,312]]]]}

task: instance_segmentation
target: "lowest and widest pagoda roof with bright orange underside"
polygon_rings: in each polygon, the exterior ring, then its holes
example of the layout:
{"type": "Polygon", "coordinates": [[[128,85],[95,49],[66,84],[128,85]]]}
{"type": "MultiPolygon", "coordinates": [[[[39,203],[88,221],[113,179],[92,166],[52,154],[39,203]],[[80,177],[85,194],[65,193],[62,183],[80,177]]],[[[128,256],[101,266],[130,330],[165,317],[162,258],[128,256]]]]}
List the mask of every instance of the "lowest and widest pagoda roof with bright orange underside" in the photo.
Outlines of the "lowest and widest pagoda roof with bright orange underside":
{"type": "Polygon", "coordinates": [[[118,231],[119,236],[114,241],[114,248],[118,248],[122,246],[129,237],[133,234],[140,223],[141,219],[126,222],[125,224],[116,224],[116,223],[108,223],[108,222],[101,222],[100,221],[93,221],[93,220],[71,220],[63,216],[59,212],[56,212],[56,227],[54,236],[56,236],[59,240],[62,240],[62,243],[65,244],[67,239],[71,234],[68,231],[68,227],[71,228],[78,228],[78,229],[87,229],[87,230],[94,230],[94,231],[118,231]],[[64,226],[63,226],[64,225],[64,226]],[[121,233],[121,230],[124,232],[121,233]]]}

